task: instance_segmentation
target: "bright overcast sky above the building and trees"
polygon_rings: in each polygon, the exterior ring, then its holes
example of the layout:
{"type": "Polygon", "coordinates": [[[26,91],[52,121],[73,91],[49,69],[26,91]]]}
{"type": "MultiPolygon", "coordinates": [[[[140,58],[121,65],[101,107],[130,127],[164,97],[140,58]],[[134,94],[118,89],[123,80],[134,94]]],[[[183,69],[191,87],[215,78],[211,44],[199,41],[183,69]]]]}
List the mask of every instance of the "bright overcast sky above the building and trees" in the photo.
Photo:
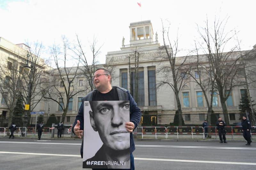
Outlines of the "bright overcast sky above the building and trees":
{"type": "Polygon", "coordinates": [[[193,49],[196,24],[204,26],[206,15],[212,23],[215,16],[229,16],[227,31],[239,31],[242,50],[249,50],[256,44],[255,6],[254,0],[0,0],[0,37],[14,44],[42,41],[47,49],[62,35],[72,40],[76,34],[89,47],[95,35],[98,45],[104,44],[99,57],[105,63],[107,52],[120,50],[123,36],[129,44],[131,22],[151,20],[163,45],[161,18],[168,19],[173,35],[179,29],[179,48],[193,49]]]}

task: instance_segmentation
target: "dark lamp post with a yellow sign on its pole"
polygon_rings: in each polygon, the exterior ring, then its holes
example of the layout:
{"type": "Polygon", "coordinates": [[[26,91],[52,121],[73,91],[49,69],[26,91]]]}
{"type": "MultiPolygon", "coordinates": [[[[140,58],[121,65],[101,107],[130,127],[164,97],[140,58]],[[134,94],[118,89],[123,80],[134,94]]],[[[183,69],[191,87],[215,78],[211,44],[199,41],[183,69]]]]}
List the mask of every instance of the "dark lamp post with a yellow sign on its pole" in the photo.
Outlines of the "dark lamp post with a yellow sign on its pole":
{"type": "Polygon", "coordinates": [[[27,123],[28,123],[28,114],[29,114],[29,110],[30,110],[30,100],[31,100],[31,96],[30,96],[30,88],[31,88],[31,71],[33,69],[33,64],[31,64],[31,67],[28,66],[28,59],[29,59],[29,53],[27,53],[27,64],[26,66],[24,66],[24,70],[28,71],[29,74],[29,82],[28,82],[28,96],[26,99],[26,105],[25,105],[25,112],[24,112],[24,116],[23,116],[23,126],[27,127],[27,123]],[[30,71],[30,73],[29,73],[30,71]]]}

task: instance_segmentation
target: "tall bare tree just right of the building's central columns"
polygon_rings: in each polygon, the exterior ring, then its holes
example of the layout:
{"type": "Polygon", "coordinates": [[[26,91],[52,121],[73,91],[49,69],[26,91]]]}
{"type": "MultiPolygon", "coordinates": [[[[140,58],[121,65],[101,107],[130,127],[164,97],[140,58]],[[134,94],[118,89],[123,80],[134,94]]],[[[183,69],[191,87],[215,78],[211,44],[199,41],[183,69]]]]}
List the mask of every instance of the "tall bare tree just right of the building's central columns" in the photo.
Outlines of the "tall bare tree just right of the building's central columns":
{"type": "Polygon", "coordinates": [[[177,112],[179,114],[179,126],[182,125],[182,110],[181,110],[181,103],[180,103],[180,98],[179,98],[179,92],[180,89],[183,85],[184,76],[180,76],[182,67],[185,63],[185,61],[188,58],[188,55],[177,59],[177,53],[179,52],[178,50],[178,38],[171,42],[171,38],[169,35],[169,30],[170,30],[170,24],[168,26],[167,31],[164,28],[163,20],[162,20],[162,35],[163,35],[163,41],[164,41],[164,46],[162,48],[162,51],[160,52],[160,57],[161,61],[168,61],[169,64],[167,66],[162,66],[159,69],[159,72],[163,73],[164,80],[160,81],[158,84],[158,87],[163,86],[165,84],[169,85],[174,94],[175,94],[175,99],[177,103],[177,112]],[[166,35],[165,35],[166,34],[166,35]],[[167,36],[167,39],[166,39],[167,36]],[[167,45],[169,44],[169,45],[167,45]],[[177,62],[178,60],[178,62],[177,62]],[[172,77],[170,77],[172,76],[172,77]]]}

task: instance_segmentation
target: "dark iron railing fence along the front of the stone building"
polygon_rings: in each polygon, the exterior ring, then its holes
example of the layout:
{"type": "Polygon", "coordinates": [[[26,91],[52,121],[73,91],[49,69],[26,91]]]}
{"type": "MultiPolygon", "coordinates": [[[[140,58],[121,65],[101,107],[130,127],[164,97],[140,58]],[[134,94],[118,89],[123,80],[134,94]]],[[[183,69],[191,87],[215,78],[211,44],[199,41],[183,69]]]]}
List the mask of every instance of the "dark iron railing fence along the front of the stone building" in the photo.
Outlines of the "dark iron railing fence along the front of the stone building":
{"type": "MultiPolygon", "coordinates": [[[[241,113],[228,113],[230,125],[241,122],[242,121],[241,113]]],[[[156,125],[171,125],[177,126],[178,124],[174,123],[175,114],[162,114],[162,115],[150,115],[150,114],[142,114],[140,125],[142,126],[156,126],[156,125]]],[[[211,121],[209,125],[215,125],[218,117],[222,117],[224,120],[223,113],[214,113],[211,116],[211,121]]],[[[20,117],[22,118],[22,117],[20,117]]],[[[0,117],[0,126],[5,127],[8,126],[9,117],[0,117]]],[[[31,116],[28,119],[28,126],[35,126],[39,121],[42,121],[45,127],[51,127],[52,123],[58,124],[63,122],[64,124],[73,124],[75,122],[76,116],[66,116],[65,121],[62,121],[61,116],[47,117],[47,116],[31,116]]],[[[184,120],[184,126],[200,126],[205,119],[207,119],[207,113],[182,113],[182,119],[184,120]]],[[[224,120],[225,121],[225,120],[224,120]]],[[[16,124],[17,126],[22,126],[22,124],[16,124]]]]}

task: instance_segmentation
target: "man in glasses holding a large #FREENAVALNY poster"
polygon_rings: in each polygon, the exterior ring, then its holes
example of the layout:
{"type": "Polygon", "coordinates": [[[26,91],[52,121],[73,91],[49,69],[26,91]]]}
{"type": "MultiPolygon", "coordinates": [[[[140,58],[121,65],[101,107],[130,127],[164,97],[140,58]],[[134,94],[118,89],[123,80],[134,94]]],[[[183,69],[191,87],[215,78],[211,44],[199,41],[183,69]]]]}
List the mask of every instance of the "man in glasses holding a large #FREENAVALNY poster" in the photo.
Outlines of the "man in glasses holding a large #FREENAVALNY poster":
{"type": "Polygon", "coordinates": [[[93,131],[98,131],[103,144],[101,143],[96,154],[83,159],[83,168],[134,170],[132,152],[135,150],[135,144],[132,131],[140,122],[141,111],[128,90],[111,86],[111,75],[108,70],[97,69],[93,76],[93,83],[96,89],[82,98],[82,104],[72,130],[79,138],[84,135],[81,145],[82,158],[83,155],[88,156],[89,147],[93,147],[97,143],[96,141],[86,142],[87,138],[91,138],[91,135],[88,135],[90,132],[87,132],[88,124],[90,124],[93,131]],[[91,107],[89,106],[89,109],[91,111],[88,111],[88,102],[85,103],[85,101],[95,101],[90,102],[91,107]],[[128,113],[130,113],[130,120],[128,113]],[[86,131],[84,131],[84,127],[86,127],[86,131]],[[129,134],[130,139],[127,134],[129,134]],[[130,167],[127,166],[127,163],[130,167]]]}

